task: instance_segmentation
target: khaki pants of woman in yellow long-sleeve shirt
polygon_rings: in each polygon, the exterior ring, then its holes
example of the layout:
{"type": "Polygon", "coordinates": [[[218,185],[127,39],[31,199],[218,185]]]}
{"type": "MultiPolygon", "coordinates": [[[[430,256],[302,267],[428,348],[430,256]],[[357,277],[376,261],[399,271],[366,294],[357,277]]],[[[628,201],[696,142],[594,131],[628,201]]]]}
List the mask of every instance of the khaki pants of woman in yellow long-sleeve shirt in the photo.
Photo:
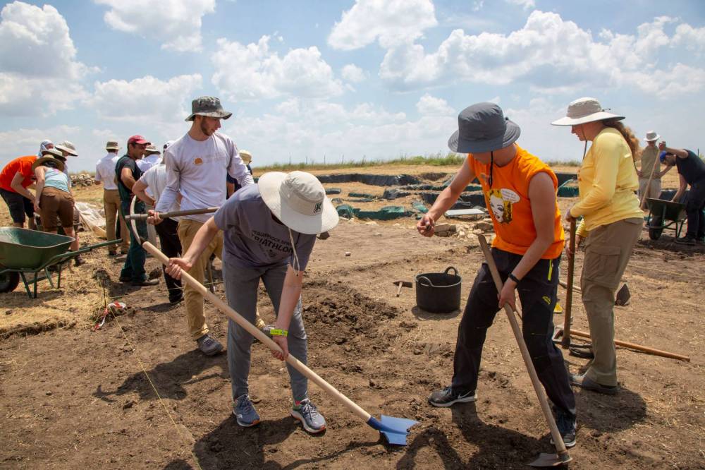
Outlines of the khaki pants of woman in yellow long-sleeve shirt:
{"type": "Polygon", "coordinates": [[[615,291],[642,233],[644,220],[624,219],[592,229],[582,265],[582,303],[587,313],[595,358],[585,375],[601,385],[617,385],[615,291]]]}

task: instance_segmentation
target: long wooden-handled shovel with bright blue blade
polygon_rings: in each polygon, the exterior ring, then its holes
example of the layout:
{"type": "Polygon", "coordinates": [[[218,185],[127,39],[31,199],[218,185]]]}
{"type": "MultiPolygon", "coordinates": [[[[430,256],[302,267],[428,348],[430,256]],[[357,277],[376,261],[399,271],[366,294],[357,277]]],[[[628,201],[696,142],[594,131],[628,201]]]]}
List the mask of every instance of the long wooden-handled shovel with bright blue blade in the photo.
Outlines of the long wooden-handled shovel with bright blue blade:
{"type": "MultiPolygon", "coordinates": [[[[130,228],[133,230],[135,238],[137,240],[142,241],[139,234],[137,233],[135,217],[130,219],[130,228]]],[[[157,258],[157,260],[159,260],[163,265],[168,265],[169,258],[167,258],[164,253],[161,253],[161,251],[159,251],[159,248],[152,245],[152,243],[149,243],[149,241],[142,241],[142,248],[145,248],[146,251],[149,251],[149,253],[151,253],[154,258],[157,258]]],[[[193,289],[196,289],[206,299],[212,301],[221,312],[228,315],[228,318],[231,318],[231,320],[243,327],[248,333],[250,333],[250,335],[259,339],[259,342],[264,344],[269,349],[282,352],[279,345],[272,341],[269,336],[265,335],[263,332],[259,331],[257,327],[255,327],[255,325],[252,325],[252,323],[245,320],[242,315],[233,310],[231,306],[228,306],[228,304],[223,302],[218,296],[206,289],[203,284],[194,279],[191,275],[188,274],[188,272],[182,271],[181,279],[183,280],[183,282],[190,285],[193,289]]],[[[343,406],[345,406],[350,412],[355,414],[355,416],[362,419],[362,421],[367,423],[367,426],[378,430],[379,433],[383,435],[384,438],[386,438],[387,442],[389,442],[391,445],[407,444],[406,437],[407,435],[409,435],[409,428],[417,424],[418,421],[414,421],[412,419],[407,418],[395,418],[394,416],[385,416],[384,414],[381,415],[378,420],[371,414],[367,413],[367,411],[364,411],[364,409],[362,409],[362,407],[359,406],[357,403],[353,402],[353,400],[349,399],[344,394],[339,392],[336,387],[333,387],[333,385],[326,382],[326,380],[321,378],[320,375],[315,373],[313,370],[309,369],[304,363],[299,361],[292,354],[286,356],[286,362],[290,366],[298,370],[300,373],[305,375],[307,378],[309,378],[309,380],[321,387],[324,392],[331,396],[331,398],[343,404],[343,406]]]]}

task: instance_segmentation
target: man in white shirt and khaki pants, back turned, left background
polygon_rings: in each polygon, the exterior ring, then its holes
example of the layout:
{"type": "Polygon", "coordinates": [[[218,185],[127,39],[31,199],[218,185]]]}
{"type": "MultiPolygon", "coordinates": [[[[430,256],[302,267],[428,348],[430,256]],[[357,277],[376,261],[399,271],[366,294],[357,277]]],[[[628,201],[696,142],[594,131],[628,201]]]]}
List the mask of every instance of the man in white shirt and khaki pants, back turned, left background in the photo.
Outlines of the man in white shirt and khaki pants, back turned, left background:
{"type": "MultiPolygon", "coordinates": [[[[130,248],[130,236],[128,235],[128,227],[125,224],[125,219],[120,215],[120,193],[118,193],[118,185],[115,183],[115,164],[120,157],[118,150],[120,146],[116,140],[109,140],[105,145],[107,155],[99,159],[95,164],[96,184],[103,184],[103,210],[105,212],[105,231],[108,241],[115,240],[115,221],[120,217],[120,234],[123,239],[120,251],[125,254],[130,248]]],[[[111,256],[117,255],[117,248],[111,245],[108,248],[108,254],[111,256]]]]}

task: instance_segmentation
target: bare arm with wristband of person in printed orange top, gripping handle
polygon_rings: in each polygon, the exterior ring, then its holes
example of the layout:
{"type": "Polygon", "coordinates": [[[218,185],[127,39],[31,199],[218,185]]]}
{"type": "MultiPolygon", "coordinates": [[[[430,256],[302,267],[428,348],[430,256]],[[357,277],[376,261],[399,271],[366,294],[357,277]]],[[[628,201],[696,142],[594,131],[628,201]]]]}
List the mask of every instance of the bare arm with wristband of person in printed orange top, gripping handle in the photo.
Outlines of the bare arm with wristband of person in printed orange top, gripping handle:
{"type": "MultiPolygon", "coordinates": [[[[556,217],[556,188],[553,187],[551,176],[544,171],[535,174],[529,181],[529,202],[531,203],[534,227],[536,227],[536,238],[512,271],[512,274],[520,280],[532,270],[555,241],[553,229],[555,227],[554,217],[556,217]]],[[[507,279],[499,295],[500,307],[509,303],[516,310],[516,288],[517,283],[512,279],[507,279]]]]}

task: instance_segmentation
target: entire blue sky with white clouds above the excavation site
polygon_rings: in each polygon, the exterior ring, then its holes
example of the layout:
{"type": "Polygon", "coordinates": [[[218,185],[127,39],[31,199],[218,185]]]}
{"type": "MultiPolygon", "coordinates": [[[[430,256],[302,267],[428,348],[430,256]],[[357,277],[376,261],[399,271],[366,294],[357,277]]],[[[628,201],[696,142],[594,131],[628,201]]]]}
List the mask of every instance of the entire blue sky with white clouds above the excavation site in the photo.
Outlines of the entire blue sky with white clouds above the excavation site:
{"type": "Polygon", "coordinates": [[[549,123],[596,97],[640,137],[705,147],[702,1],[14,1],[0,12],[0,164],[71,140],[188,130],[221,97],[255,167],[446,152],[461,109],[493,101],[520,145],[575,160],[549,123]]]}

